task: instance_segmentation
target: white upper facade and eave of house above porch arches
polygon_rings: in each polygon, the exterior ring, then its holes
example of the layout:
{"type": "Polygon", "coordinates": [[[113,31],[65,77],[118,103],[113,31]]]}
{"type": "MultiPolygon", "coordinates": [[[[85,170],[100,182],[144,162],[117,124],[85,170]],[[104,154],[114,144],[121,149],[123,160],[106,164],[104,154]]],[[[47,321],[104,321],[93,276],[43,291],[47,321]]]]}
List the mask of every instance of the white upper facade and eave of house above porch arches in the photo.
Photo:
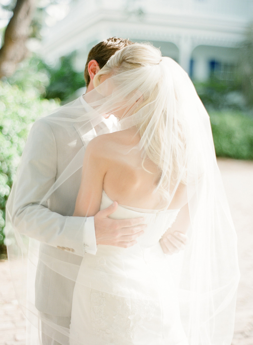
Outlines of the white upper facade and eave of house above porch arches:
{"type": "Polygon", "coordinates": [[[234,47],[251,19],[253,0],[77,0],[47,30],[42,54],[55,59],[111,36],[234,47]]]}

